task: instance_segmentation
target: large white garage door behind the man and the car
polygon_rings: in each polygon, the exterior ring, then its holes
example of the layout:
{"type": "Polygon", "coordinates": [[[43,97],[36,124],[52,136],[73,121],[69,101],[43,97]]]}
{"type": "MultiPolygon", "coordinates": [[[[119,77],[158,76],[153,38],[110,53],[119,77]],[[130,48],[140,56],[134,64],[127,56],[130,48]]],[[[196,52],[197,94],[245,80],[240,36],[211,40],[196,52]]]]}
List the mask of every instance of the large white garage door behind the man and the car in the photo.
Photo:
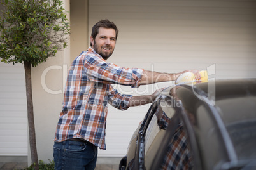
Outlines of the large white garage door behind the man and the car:
{"type": "MultiPolygon", "coordinates": [[[[212,66],[216,79],[248,78],[256,76],[255,6],[255,1],[90,0],[89,29],[105,18],[117,24],[120,34],[109,62],[122,67],[180,72],[212,66]]],[[[154,88],[121,90],[142,95],[154,88]]],[[[125,155],[147,109],[110,108],[107,150],[99,155],[125,155]]]]}

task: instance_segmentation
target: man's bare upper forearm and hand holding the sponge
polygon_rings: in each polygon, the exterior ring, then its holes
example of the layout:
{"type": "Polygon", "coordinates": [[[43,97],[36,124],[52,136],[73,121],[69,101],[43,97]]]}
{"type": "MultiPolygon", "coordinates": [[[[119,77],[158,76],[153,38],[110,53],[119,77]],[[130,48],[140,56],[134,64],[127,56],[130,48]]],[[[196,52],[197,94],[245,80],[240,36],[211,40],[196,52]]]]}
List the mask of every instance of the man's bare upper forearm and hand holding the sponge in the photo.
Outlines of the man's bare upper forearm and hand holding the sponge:
{"type": "Polygon", "coordinates": [[[185,72],[193,72],[196,80],[201,78],[201,75],[197,70],[185,70],[179,73],[160,73],[145,70],[141,76],[140,84],[145,85],[153,84],[155,82],[176,81],[176,79],[185,72]]]}

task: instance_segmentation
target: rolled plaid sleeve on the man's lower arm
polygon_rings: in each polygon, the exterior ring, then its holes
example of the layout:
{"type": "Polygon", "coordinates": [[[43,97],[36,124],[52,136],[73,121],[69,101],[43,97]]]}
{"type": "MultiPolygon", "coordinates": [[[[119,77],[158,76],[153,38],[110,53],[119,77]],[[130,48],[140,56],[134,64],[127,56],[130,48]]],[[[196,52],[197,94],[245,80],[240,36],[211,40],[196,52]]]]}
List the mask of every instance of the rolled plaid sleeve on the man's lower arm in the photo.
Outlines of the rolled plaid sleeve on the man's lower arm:
{"type": "Polygon", "coordinates": [[[108,93],[108,103],[119,110],[127,110],[129,108],[129,101],[132,95],[123,95],[118,93],[110,84],[110,91],[108,93]]]}

